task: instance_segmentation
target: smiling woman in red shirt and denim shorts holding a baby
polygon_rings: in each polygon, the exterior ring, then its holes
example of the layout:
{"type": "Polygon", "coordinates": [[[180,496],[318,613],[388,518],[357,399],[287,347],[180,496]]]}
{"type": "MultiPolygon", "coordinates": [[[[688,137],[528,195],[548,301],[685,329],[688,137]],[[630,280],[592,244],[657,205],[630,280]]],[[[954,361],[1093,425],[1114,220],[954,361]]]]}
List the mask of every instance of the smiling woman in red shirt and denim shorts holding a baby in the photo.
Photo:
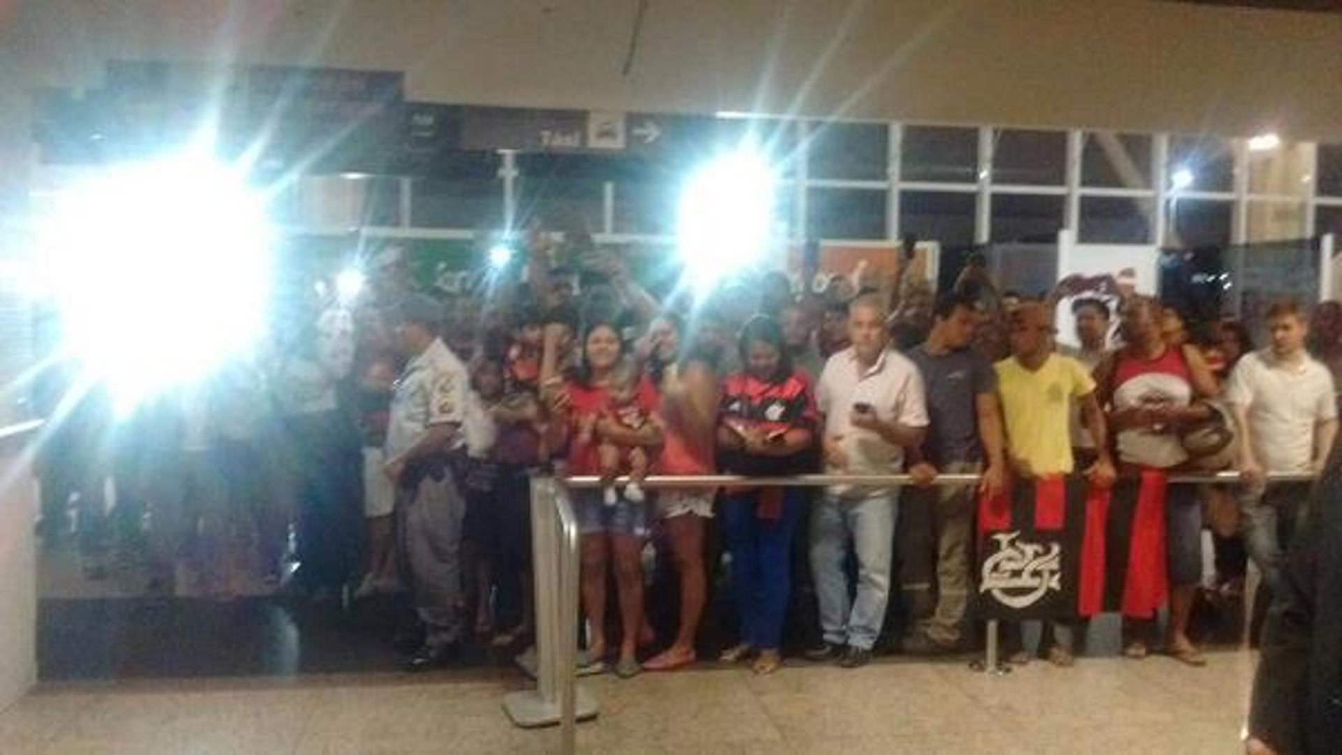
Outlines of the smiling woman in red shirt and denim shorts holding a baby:
{"type": "MultiPolygon", "coordinates": [[[[616,445],[654,448],[662,443],[658,422],[647,422],[639,429],[623,426],[604,416],[611,405],[611,393],[617,386],[617,367],[625,358],[620,331],[611,323],[595,323],[582,337],[582,358],[572,377],[558,377],[560,329],[548,327],[545,357],[542,359],[542,386],[554,413],[550,428],[556,433],[556,448],[568,443],[569,475],[600,475],[597,447],[601,441],[616,445]],[[589,433],[578,432],[588,417],[596,416],[589,433]]],[[[646,414],[658,412],[658,394],[647,377],[640,377],[635,389],[635,404],[646,414]]],[[[601,500],[601,491],[573,491],[574,514],[582,527],[582,606],[586,612],[590,636],[588,657],[597,662],[607,654],[605,640],[605,583],[607,569],[615,561],[615,578],[620,591],[620,661],[616,673],[631,677],[639,673],[639,628],[643,624],[643,542],[647,536],[647,514],[641,503],[621,495],[615,504],[601,500]]]]}

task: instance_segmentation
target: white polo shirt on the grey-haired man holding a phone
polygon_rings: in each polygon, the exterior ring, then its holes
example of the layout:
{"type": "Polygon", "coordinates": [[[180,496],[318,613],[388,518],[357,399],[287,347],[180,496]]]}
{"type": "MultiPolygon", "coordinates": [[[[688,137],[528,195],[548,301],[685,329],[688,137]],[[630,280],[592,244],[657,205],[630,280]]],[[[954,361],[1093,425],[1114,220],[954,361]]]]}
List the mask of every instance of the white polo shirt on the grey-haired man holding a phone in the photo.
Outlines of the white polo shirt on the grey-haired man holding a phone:
{"type": "MultiPolygon", "coordinates": [[[[855,428],[849,421],[854,405],[871,404],[883,422],[898,422],[907,428],[927,426],[927,396],[922,374],[913,361],[892,349],[883,351],[868,370],[858,363],[858,353],[852,347],[829,357],[820,373],[816,401],[825,416],[825,437],[843,437],[841,444],[848,453],[847,472],[855,475],[903,471],[905,449],[871,430],[855,428]]],[[[847,485],[831,488],[833,495],[847,492],[847,485]]],[[[878,492],[882,491],[870,491],[871,495],[878,492]]]]}

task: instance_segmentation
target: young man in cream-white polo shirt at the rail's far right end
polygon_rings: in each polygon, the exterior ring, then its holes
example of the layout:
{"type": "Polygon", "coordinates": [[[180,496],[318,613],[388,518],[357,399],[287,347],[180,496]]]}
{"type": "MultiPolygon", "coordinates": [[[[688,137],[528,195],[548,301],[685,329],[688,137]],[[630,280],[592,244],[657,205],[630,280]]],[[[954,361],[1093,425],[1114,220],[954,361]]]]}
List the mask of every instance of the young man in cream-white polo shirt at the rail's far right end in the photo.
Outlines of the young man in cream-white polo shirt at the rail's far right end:
{"type": "Polygon", "coordinates": [[[1292,302],[1267,315],[1272,346],[1240,359],[1225,389],[1239,425],[1240,499],[1244,544],[1270,590],[1278,587],[1282,540],[1278,519],[1291,532],[1308,500],[1307,483],[1267,487],[1268,472],[1319,472],[1337,436],[1333,375],[1304,350],[1304,311],[1292,302]]]}

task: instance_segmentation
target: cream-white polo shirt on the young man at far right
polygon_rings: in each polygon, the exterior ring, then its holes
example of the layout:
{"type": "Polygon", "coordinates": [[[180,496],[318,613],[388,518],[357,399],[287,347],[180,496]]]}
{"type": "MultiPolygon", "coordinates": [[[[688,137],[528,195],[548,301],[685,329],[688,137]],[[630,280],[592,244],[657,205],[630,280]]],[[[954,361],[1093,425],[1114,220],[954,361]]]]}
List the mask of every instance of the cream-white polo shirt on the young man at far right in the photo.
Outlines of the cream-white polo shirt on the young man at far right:
{"type": "Polygon", "coordinates": [[[1308,355],[1287,365],[1271,349],[1240,359],[1225,401],[1248,408],[1249,441],[1268,472],[1310,471],[1314,425],[1338,414],[1327,367],[1308,355]]]}

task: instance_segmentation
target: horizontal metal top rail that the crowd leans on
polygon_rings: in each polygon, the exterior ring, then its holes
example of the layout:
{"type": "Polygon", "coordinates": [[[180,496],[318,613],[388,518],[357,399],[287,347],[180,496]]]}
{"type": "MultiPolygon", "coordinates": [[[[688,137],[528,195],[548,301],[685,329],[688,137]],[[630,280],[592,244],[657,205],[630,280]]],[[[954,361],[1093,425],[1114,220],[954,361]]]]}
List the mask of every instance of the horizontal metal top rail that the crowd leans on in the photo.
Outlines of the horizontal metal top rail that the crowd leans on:
{"type": "MultiPolygon", "coordinates": [[[[933,485],[972,485],[982,479],[981,475],[937,475],[933,485]]],[[[1314,472],[1268,472],[1270,483],[1312,483],[1317,479],[1314,472]]],[[[564,484],[570,488],[599,488],[605,481],[595,475],[577,475],[564,477],[564,484]]],[[[615,484],[623,485],[628,477],[616,477],[615,484]]],[[[1176,484],[1237,484],[1241,483],[1239,472],[1176,472],[1169,476],[1176,484]]],[[[654,475],[639,483],[646,488],[703,488],[715,485],[753,485],[753,487],[785,487],[785,488],[824,488],[831,485],[854,487],[886,487],[911,485],[911,475],[788,475],[778,477],[750,477],[745,475],[654,475]]]]}

